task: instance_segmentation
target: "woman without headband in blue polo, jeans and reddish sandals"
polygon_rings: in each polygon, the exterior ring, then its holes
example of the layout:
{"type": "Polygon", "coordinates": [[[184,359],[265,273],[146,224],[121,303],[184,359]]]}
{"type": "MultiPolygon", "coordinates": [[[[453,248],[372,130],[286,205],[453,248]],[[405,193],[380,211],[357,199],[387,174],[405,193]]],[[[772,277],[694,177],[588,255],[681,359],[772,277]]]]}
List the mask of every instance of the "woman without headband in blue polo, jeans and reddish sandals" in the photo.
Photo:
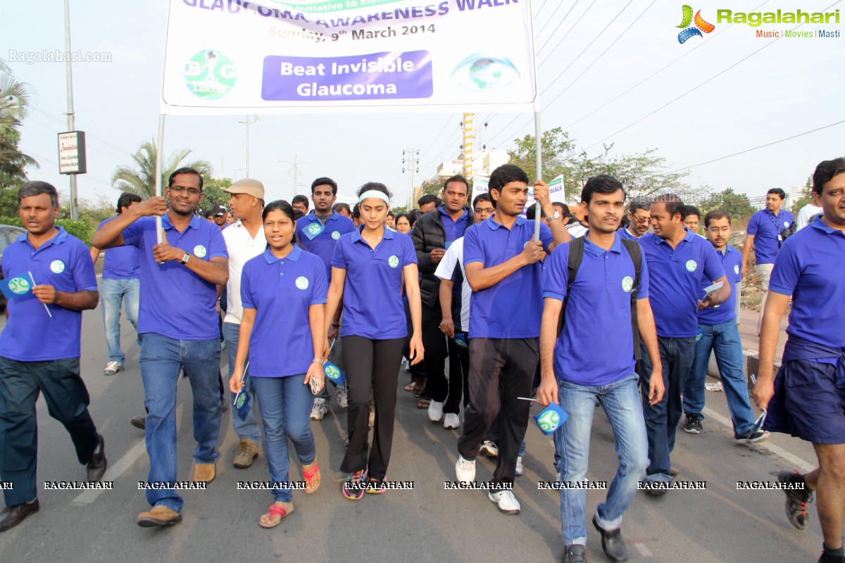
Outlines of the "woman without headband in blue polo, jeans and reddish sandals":
{"type": "MultiPolygon", "coordinates": [[[[273,528],[293,512],[288,438],[303,464],[305,492],[319,487],[319,465],[308,423],[311,392],[319,392],[324,385],[327,281],[323,261],[294,244],[296,220],[289,203],[268,204],[262,218],[268,247],[243,266],[243,320],[229,388],[242,390],[249,360],[248,376],[253,378],[264,421],[264,452],[275,498],[259,525],[273,528]],[[280,334],[285,335],[283,346],[280,334]]],[[[237,411],[232,414],[237,416],[237,411]]]]}

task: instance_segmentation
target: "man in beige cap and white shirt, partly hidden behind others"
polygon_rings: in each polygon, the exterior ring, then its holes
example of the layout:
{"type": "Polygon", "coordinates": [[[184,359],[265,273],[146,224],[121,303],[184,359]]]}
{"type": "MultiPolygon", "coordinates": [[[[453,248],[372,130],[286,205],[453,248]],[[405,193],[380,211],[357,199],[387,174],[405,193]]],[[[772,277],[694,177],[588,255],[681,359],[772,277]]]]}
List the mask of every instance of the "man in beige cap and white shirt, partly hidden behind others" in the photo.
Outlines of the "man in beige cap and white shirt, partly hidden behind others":
{"type": "MultiPolygon", "coordinates": [[[[243,264],[264,252],[267,247],[267,238],[264,236],[264,224],[261,220],[261,212],[264,209],[264,184],[252,178],[243,178],[223,191],[232,195],[229,199],[229,208],[236,219],[232,226],[223,230],[226,252],[229,253],[229,281],[226,282],[228,298],[226,318],[223,319],[223,338],[226,342],[229,379],[231,379],[232,371],[235,369],[237,341],[243,317],[241,303],[243,264]]],[[[255,389],[252,382],[252,378],[247,377],[246,392],[254,398],[255,389]]],[[[232,393],[232,400],[234,400],[234,393],[232,393]]],[[[255,420],[253,404],[247,405],[246,412],[232,411],[232,430],[235,430],[239,441],[237,452],[232,460],[232,465],[236,468],[248,468],[259,456],[261,428],[255,420]]]]}

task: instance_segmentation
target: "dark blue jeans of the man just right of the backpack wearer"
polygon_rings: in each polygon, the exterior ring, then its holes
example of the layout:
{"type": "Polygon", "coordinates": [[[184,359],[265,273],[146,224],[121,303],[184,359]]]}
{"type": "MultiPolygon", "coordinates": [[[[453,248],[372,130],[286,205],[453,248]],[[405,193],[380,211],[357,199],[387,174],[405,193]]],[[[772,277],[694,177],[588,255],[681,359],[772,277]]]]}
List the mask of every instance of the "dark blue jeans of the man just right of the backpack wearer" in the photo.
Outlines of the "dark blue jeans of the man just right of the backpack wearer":
{"type": "Polygon", "coordinates": [[[675,447],[675,430],[683,414],[681,392],[684,390],[686,378],[690,374],[693,356],[695,355],[695,337],[670,338],[657,337],[660,349],[660,361],[663,365],[663,398],[660,403],[648,403],[648,381],[651,377],[651,360],[642,346],[642,360],[637,362],[637,373],[640,375],[643,388],[642,408],[646,414],[646,433],[648,435],[648,459],[650,465],[646,471],[646,481],[672,480],[669,475],[669,454],[675,447]]]}

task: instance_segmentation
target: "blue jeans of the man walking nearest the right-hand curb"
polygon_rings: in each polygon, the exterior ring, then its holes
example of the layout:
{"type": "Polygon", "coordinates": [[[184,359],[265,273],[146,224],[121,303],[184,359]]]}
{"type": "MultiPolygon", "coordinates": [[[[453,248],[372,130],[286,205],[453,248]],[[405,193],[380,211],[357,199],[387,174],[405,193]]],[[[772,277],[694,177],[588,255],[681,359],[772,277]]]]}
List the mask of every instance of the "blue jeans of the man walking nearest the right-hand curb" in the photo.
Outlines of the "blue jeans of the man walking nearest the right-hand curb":
{"type": "MultiPolygon", "coordinates": [[[[704,409],[704,382],[711,350],[716,352],[716,364],[722,377],[722,388],[728,399],[733,420],[733,435],[744,436],[754,428],[754,411],[748,398],[748,383],[743,371],[742,340],[736,321],[715,325],[700,324],[701,339],[695,343],[695,360],[684,386],[684,413],[698,414],[704,409]]],[[[703,418],[703,417],[702,417],[703,418]]]]}

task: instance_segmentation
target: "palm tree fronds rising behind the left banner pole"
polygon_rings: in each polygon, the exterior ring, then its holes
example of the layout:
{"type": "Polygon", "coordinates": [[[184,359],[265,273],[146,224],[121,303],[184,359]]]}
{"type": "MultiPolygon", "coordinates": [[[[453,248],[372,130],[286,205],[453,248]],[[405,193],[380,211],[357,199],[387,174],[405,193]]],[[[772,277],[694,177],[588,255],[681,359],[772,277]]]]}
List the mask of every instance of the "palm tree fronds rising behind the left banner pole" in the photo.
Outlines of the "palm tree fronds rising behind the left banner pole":
{"type": "MultiPolygon", "coordinates": [[[[117,166],[112,175],[112,184],[121,192],[139,195],[142,199],[149,199],[155,195],[155,141],[144,143],[132,160],[135,166],[117,166]]],[[[211,176],[211,165],[208,160],[194,160],[183,162],[191,154],[191,149],[181,149],[173,152],[164,161],[164,171],[161,172],[161,186],[167,185],[167,178],[178,168],[185,166],[198,171],[201,176],[211,176]]]]}

